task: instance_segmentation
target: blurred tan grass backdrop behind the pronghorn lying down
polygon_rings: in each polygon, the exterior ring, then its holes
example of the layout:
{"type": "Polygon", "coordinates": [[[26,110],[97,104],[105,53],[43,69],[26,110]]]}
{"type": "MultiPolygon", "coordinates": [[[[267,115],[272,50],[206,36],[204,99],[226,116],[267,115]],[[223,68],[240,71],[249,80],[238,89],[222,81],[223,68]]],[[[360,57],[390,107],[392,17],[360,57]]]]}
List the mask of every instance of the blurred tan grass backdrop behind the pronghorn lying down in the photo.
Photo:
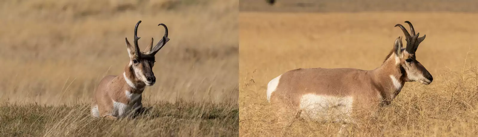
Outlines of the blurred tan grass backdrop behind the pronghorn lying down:
{"type": "Polygon", "coordinates": [[[238,1],[2,0],[0,100],[89,100],[105,75],[129,62],[124,38],[138,29],[140,48],[171,41],[156,55],[157,83],[144,96],[174,102],[237,100],[238,1]],[[172,6],[175,5],[175,6],[172,6]],[[170,10],[165,10],[170,8],[170,10]]]}

